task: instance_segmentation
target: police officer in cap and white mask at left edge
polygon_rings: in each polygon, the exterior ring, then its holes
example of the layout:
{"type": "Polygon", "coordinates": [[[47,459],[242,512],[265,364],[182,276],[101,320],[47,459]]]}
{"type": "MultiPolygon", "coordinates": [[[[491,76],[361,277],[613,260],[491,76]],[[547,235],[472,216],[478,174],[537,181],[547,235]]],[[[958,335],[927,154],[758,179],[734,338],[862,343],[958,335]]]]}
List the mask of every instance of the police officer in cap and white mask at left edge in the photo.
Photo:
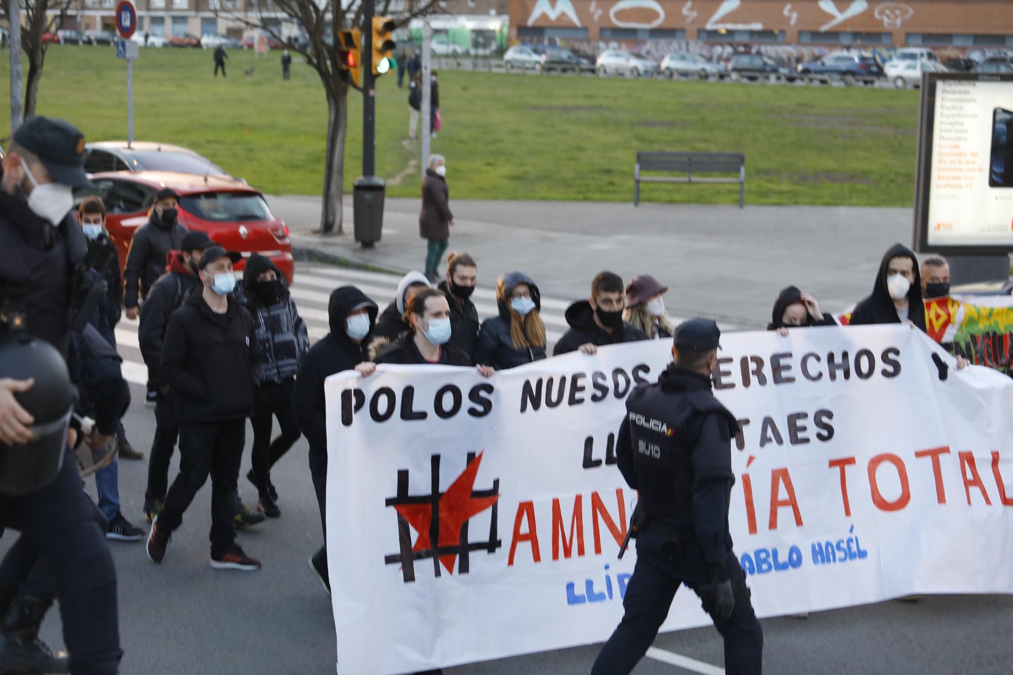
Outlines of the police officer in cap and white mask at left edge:
{"type": "MultiPolygon", "coordinates": [[[[75,270],[86,246],[71,214],[73,188],[91,185],[83,165],[84,136],[66,122],[36,117],[14,133],[0,175],[0,332],[24,329],[65,360],[75,309],[88,291],[79,283],[86,275],[75,270]]],[[[12,453],[37,436],[18,401],[35,383],[3,368],[0,453],[12,453]]],[[[69,447],[64,453],[45,486],[0,496],[0,518],[21,532],[15,545],[29,547],[57,579],[71,672],[106,675],[118,672],[123,657],[115,569],[101,515],[69,447]]]]}

